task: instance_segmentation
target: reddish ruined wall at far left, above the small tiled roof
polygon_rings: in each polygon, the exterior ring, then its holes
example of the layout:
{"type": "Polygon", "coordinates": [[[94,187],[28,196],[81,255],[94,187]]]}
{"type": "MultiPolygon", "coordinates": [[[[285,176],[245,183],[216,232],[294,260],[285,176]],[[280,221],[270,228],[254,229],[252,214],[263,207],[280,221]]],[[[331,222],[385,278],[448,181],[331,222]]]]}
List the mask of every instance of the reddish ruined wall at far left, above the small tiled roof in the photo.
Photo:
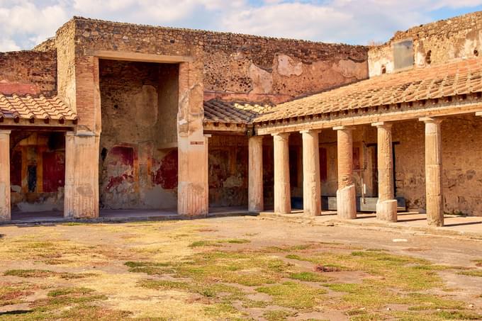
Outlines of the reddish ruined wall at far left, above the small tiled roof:
{"type": "Polygon", "coordinates": [[[0,52],[0,92],[46,96],[57,92],[55,51],[0,52]]]}

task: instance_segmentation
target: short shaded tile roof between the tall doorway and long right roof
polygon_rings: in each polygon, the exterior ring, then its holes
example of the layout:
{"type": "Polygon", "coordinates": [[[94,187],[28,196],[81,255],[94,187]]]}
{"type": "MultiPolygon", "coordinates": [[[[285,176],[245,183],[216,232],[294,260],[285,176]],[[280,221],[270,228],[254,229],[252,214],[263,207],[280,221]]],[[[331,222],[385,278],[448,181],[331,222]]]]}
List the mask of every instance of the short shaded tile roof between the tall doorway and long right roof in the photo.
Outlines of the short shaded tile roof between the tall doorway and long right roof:
{"type": "Polygon", "coordinates": [[[211,99],[204,102],[204,123],[248,124],[272,108],[273,106],[257,103],[211,99]]]}

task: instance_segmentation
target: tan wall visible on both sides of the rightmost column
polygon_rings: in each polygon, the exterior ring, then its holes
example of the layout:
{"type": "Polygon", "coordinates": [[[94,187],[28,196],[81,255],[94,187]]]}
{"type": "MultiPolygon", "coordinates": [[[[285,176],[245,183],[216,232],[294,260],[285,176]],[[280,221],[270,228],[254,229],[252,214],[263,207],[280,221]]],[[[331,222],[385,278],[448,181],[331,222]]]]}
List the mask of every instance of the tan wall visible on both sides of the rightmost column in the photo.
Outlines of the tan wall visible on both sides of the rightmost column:
{"type": "MultiPolygon", "coordinates": [[[[425,208],[424,124],[396,123],[396,185],[408,207],[425,208]]],[[[482,216],[482,120],[474,116],[446,118],[442,123],[444,211],[482,216]]]]}

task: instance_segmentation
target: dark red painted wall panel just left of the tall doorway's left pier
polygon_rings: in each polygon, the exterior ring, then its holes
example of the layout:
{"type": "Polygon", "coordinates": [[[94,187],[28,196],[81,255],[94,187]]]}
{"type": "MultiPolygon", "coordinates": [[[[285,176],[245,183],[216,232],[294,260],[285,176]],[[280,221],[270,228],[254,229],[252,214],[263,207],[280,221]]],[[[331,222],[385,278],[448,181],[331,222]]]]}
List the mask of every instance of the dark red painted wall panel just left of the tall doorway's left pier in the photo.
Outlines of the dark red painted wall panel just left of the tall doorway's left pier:
{"type": "Polygon", "coordinates": [[[43,152],[43,191],[56,192],[65,185],[65,154],[43,152]]]}

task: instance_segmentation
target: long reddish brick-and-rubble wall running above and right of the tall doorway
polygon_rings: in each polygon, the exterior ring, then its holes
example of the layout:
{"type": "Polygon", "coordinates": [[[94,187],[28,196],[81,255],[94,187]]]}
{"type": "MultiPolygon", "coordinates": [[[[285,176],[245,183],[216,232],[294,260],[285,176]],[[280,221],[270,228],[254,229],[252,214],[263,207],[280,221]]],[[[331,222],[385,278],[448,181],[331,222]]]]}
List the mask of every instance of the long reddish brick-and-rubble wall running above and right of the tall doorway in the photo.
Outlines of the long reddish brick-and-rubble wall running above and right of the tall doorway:
{"type": "Polygon", "coordinates": [[[202,58],[206,99],[286,101],[367,77],[366,47],[202,30],[159,28],[85,18],[77,51],[119,50],[202,58]]]}

